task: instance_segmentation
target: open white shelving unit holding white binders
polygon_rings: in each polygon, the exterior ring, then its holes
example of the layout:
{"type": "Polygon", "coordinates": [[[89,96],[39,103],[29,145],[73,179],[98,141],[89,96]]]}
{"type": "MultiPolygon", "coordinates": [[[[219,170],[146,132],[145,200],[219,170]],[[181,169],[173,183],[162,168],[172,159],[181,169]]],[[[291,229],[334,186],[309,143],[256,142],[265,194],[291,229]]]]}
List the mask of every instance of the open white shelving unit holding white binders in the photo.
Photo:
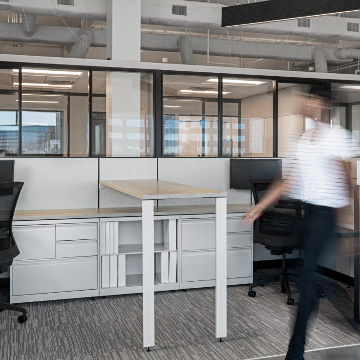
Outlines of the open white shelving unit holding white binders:
{"type": "MultiPolygon", "coordinates": [[[[107,218],[100,223],[100,295],[142,292],[141,217],[107,218]]],[[[176,290],[179,216],[155,216],[155,290],[176,290]]]]}

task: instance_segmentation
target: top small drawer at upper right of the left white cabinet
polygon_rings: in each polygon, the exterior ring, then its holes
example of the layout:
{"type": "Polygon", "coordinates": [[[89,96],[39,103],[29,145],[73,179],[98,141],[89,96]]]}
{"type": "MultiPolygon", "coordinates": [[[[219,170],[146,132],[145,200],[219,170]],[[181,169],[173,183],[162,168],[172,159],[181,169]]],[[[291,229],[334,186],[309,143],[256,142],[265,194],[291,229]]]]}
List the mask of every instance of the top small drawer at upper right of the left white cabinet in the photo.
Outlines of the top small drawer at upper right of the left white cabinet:
{"type": "Polygon", "coordinates": [[[98,238],[98,224],[60,224],[56,225],[56,241],[84,240],[98,238]]]}

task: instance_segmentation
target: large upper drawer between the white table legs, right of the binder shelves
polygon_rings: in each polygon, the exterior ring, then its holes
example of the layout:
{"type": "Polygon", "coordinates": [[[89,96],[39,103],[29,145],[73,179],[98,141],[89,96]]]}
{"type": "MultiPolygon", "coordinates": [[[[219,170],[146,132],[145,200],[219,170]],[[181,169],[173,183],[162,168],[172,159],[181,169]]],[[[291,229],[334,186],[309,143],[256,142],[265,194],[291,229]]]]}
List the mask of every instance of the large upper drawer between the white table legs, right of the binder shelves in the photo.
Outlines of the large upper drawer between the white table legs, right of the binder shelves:
{"type": "Polygon", "coordinates": [[[182,221],[182,250],[215,248],[215,219],[182,221]]]}

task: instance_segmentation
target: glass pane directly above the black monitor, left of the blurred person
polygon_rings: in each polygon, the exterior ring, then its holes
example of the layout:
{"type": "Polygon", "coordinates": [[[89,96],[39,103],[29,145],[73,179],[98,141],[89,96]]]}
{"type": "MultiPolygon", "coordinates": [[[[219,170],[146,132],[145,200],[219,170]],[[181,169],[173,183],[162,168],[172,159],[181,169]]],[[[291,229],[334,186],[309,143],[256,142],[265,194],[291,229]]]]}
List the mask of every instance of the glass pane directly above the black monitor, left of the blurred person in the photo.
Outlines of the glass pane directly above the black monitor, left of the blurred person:
{"type": "Polygon", "coordinates": [[[223,78],[223,156],[273,156],[271,80],[223,78]]]}

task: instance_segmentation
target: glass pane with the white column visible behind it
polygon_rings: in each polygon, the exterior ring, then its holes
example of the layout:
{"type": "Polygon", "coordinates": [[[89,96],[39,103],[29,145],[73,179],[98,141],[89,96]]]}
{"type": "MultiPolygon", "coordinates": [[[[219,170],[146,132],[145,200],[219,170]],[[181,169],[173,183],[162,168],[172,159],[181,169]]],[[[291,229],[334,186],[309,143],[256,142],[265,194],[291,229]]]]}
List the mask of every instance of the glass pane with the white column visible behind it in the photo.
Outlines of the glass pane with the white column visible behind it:
{"type": "Polygon", "coordinates": [[[153,75],[93,71],[92,156],[153,156],[153,75]]]}

